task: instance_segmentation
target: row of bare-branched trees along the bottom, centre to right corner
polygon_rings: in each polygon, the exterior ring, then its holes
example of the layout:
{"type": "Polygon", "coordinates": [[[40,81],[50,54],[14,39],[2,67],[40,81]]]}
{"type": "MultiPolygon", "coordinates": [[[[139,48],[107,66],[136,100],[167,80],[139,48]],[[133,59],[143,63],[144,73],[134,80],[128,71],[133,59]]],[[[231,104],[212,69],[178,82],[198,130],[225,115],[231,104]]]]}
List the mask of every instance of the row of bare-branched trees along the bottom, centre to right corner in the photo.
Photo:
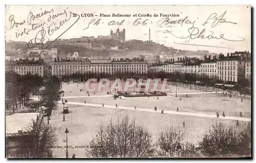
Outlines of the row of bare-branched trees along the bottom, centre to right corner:
{"type": "Polygon", "coordinates": [[[86,149],[88,157],[225,157],[251,155],[251,125],[237,132],[232,126],[216,123],[198,145],[185,141],[179,128],[161,131],[155,144],[146,126],[128,115],[100,124],[86,149]]]}

